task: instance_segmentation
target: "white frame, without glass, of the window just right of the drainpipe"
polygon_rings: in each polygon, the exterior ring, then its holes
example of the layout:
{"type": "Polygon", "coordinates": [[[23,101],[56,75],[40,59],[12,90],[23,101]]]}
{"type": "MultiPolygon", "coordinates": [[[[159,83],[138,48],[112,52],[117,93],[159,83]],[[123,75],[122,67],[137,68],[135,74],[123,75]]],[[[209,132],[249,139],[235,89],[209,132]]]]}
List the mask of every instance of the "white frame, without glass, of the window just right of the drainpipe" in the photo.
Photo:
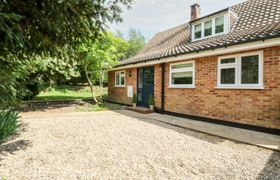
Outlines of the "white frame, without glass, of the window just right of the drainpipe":
{"type": "Polygon", "coordinates": [[[195,61],[184,61],[178,63],[172,63],[169,66],[169,88],[195,88],[195,61]],[[179,64],[192,64],[192,67],[172,69],[172,66],[179,64]],[[176,72],[192,72],[193,82],[192,84],[172,84],[172,73],[176,72]]]}

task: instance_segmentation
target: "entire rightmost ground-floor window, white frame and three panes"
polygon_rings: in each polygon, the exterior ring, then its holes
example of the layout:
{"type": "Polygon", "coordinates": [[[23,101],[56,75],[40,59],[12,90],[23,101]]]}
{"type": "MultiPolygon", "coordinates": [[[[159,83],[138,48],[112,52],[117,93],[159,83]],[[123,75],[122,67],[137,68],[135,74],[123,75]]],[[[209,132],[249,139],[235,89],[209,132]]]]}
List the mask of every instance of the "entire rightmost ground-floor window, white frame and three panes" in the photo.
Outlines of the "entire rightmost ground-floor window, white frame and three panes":
{"type": "Polygon", "coordinates": [[[263,53],[253,52],[218,59],[218,88],[263,88],[263,53]]]}

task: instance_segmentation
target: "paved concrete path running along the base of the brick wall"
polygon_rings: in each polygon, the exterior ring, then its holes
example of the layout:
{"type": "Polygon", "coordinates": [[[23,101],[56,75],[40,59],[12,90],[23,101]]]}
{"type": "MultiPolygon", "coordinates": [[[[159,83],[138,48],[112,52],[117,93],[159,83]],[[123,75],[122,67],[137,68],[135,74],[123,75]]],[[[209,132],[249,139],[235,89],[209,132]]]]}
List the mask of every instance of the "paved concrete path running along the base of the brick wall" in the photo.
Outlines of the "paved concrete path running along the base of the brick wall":
{"type": "Polygon", "coordinates": [[[143,119],[153,119],[170,125],[180,126],[183,128],[219,136],[222,138],[280,151],[279,135],[197,121],[188,118],[175,117],[166,114],[137,114],[130,111],[126,111],[125,114],[132,117],[141,117],[143,119]]]}

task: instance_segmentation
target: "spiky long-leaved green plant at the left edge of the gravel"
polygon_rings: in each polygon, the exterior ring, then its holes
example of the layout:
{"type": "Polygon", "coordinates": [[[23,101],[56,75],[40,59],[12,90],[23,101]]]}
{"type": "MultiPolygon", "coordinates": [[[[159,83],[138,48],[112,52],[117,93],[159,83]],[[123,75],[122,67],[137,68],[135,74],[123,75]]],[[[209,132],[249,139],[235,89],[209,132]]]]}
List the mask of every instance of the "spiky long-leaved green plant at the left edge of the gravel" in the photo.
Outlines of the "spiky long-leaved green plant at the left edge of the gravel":
{"type": "Polygon", "coordinates": [[[0,112],[0,142],[16,132],[19,127],[18,118],[18,113],[13,110],[0,112]]]}

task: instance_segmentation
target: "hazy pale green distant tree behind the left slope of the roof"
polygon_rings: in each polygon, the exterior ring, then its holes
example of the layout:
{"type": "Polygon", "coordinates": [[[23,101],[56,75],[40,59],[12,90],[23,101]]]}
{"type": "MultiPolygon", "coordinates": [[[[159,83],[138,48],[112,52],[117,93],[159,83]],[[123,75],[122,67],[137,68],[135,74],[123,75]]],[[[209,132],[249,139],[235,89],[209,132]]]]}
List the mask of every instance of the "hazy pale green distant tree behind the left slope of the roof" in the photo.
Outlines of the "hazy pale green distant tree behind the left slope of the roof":
{"type": "Polygon", "coordinates": [[[135,56],[140,50],[143,49],[146,44],[146,39],[140,31],[130,29],[127,42],[129,43],[129,48],[127,50],[126,57],[129,58],[135,56]]]}

